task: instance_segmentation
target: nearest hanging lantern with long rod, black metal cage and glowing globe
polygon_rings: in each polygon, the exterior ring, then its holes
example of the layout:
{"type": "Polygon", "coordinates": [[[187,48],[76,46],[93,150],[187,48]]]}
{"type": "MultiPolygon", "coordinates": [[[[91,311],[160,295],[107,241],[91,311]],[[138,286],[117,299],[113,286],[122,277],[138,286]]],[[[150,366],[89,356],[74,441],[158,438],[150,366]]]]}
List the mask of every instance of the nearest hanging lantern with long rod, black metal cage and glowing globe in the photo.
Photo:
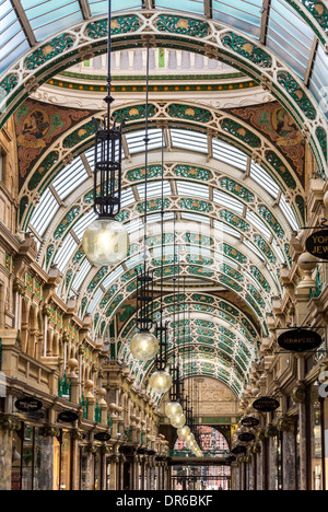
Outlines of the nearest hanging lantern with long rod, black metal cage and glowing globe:
{"type": "Polygon", "coordinates": [[[121,203],[121,155],[122,128],[112,125],[110,105],[110,26],[112,3],[108,3],[108,78],[107,78],[107,118],[102,125],[93,119],[95,125],[95,167],[94,167],[94,211],[98,219],[85,231],[82,247],[95,266],[116,265],[126,258],[129,251],[129,234],[125,226],[116,220],[121,203]]]}

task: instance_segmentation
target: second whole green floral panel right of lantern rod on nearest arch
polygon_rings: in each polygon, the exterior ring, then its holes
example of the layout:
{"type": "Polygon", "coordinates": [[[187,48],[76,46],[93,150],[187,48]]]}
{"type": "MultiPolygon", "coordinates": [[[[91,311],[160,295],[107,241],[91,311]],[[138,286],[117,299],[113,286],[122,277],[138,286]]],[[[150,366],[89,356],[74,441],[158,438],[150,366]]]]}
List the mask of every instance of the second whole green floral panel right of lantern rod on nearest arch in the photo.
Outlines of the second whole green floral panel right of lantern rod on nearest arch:
{"type": "Polygon", "coordinates": [[[222,44],[223,46],[232,49],[236,54],[245,57],[261,68],[272,67],[271,56],[267,54],[261,47],[241,35],[237,35],[233,32],[224,34],[222,37],[222,44]]]}

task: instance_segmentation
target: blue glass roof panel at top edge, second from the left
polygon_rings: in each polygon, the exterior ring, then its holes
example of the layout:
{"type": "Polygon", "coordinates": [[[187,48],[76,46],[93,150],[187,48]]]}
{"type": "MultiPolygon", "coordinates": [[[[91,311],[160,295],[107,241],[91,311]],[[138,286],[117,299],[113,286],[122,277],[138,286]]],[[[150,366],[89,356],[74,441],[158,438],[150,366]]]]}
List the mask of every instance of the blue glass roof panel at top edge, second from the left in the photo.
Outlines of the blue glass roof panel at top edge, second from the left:
{"type": "Polygon", "coordinates": [[[78,0],[21,0],[21,3],[38,42],[83,21],[78,0]]]}

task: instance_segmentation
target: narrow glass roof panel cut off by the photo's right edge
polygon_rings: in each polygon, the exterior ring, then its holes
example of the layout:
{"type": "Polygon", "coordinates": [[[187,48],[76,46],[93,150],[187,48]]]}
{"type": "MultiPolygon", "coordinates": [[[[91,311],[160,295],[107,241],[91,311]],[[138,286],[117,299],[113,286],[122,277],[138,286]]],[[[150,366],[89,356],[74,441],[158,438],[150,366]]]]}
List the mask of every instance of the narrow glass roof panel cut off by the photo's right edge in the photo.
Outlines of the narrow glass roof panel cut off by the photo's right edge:
{"type": "Polygon", "coordinates": [[[328,56],[319,44],[314,61],[309,90],[319,103],[321,110],[328,119],[328,56]]]}

